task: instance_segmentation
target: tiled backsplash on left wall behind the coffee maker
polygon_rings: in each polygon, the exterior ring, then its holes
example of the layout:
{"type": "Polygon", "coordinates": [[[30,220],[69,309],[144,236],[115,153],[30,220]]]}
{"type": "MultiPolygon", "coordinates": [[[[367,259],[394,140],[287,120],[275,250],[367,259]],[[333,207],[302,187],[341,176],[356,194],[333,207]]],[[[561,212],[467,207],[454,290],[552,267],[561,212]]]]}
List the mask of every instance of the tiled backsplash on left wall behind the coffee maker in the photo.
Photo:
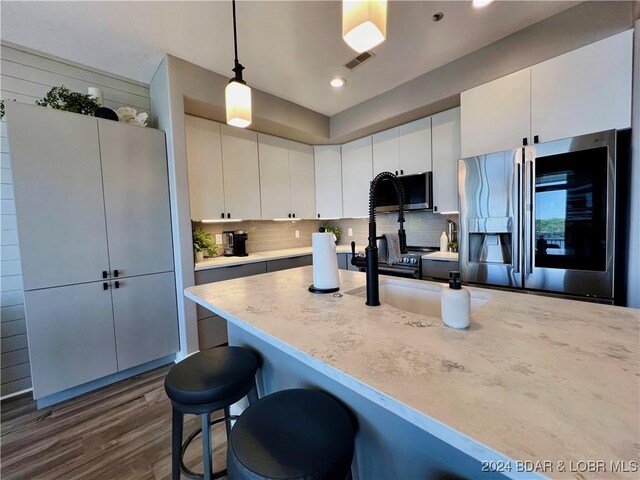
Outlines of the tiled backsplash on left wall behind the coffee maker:
{"type": "MultiPolygon", "coordinates": [[[[242,222],[198,223],[213,236],[227,230],[246,230],[247,252],[264,252],[281,248],[311,246],[311,234],[317,232],[322,223],[318,220],[271,221],[244,220],[242,222]],[[296,230],[300,237],[296,238],[296,230]]],[[[222,249],[220,249],[222,251],[222,249]]]]}

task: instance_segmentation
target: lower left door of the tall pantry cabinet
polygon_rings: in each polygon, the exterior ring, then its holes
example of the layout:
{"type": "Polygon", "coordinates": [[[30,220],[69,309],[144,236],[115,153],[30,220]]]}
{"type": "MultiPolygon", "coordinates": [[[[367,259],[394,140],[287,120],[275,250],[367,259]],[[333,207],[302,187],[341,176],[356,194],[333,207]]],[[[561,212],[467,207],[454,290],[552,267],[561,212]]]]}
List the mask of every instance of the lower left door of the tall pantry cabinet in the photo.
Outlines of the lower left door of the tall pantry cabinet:
{"type": "Polygon", "coordinates": [[[34,398],[118,371],[111,292],[103,285],[24,292],[34,398]]]}

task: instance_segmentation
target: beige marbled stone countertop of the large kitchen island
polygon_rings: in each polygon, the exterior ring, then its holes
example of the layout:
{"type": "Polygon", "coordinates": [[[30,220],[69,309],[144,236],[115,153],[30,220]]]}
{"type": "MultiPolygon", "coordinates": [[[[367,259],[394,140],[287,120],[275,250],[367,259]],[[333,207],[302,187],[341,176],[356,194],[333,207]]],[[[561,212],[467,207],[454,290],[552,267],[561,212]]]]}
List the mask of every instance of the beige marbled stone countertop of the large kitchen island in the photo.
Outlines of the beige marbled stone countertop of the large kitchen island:
{"type": "MultiPolygon", "coordinates": [[[[489,300],[469,329],[453,330],[390,305],[367,307],[361,297],[309,293],[312,272],[185,295],[473,458],[549,461],[545,475],[554,478],[637,478],[557,466],[638,461],[639,310],[470,288],[489,300]]],[[[365,275],[341,270],[340,282],[344,293],[365,275]]]]}

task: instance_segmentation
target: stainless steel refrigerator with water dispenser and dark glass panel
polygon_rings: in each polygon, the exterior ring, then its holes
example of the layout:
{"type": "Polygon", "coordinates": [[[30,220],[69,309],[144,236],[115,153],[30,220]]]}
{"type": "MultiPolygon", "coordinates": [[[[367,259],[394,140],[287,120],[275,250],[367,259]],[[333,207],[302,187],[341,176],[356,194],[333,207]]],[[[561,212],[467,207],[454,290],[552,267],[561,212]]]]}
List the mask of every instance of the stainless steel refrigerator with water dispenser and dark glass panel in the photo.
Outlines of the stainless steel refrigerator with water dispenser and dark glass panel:
{"type": "Polygon", "coordinates": [[[463,281],[611,301],[616,132],[458,161],[463,281]]]}

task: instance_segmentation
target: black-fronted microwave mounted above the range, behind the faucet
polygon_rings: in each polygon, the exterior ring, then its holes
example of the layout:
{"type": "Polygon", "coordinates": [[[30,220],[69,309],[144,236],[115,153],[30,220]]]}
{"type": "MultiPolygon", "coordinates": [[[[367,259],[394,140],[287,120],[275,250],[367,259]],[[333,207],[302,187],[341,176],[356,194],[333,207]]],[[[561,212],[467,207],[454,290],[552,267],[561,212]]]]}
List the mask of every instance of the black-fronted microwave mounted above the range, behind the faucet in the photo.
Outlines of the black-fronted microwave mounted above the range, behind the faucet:
{"type": "MultiPolygon", "coordinates": [[[[433,209],[433,176],[431,172],[403,175],[398,177],[404,190],[404,210],[433,209]]],[[[380,183],[377,192],[376,211],[396,212],[399,209],[398,197],[393,183],[380,183]]]]}

